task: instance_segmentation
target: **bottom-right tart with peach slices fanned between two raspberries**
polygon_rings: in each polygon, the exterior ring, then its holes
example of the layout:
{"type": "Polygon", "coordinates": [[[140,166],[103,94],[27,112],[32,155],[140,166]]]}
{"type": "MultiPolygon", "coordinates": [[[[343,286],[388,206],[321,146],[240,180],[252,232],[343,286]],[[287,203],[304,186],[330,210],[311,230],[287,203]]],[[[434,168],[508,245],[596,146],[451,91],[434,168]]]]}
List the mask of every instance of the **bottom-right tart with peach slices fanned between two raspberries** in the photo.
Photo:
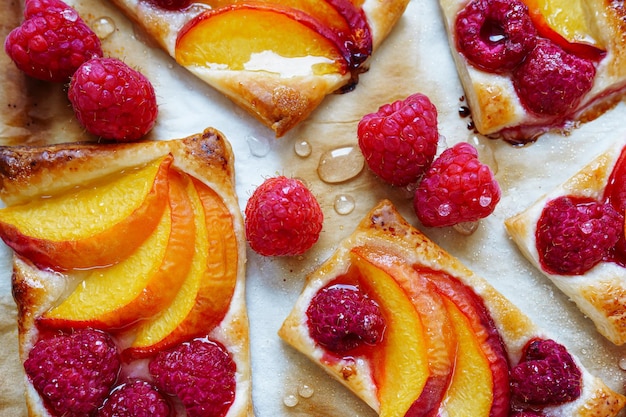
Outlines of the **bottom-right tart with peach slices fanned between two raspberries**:
{"type": "Polygon", "coordinates": [[[307,277],[279,335],[381,416],[616,416],[626,405],[386,200],[307,277]]]}

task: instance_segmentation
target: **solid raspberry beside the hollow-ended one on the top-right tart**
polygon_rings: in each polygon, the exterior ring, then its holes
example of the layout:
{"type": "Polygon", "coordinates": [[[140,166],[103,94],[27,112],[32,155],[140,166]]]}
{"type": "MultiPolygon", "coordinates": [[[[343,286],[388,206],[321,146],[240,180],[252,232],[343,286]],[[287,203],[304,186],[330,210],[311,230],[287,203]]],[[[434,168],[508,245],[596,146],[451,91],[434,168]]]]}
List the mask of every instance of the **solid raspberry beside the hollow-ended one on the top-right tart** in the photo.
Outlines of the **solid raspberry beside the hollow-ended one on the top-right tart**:
{"type": "Polygon", "coordinates": [[[591,90],[596,75],[593,62],[569,54],[547,39],[513,74],[513,85],[522,104],[545,116],[564,116],[591,90]]]}

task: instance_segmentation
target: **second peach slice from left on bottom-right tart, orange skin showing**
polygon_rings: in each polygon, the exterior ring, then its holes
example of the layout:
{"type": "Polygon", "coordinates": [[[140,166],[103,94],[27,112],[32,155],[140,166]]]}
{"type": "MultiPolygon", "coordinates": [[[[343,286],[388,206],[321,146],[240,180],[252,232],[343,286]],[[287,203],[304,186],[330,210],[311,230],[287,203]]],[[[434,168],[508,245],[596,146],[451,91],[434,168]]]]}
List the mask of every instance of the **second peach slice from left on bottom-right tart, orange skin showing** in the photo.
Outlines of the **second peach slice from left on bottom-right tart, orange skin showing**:
{"type": "Polygon", "coordinates": [[[371,246],[358,246],[352,252],[393,277],[417,310],[424,327],[430,376],[406,416],[436,416],[452,378],[457,352],[456,334],[442,297],[432,282],[402,258],[371,246]]]}

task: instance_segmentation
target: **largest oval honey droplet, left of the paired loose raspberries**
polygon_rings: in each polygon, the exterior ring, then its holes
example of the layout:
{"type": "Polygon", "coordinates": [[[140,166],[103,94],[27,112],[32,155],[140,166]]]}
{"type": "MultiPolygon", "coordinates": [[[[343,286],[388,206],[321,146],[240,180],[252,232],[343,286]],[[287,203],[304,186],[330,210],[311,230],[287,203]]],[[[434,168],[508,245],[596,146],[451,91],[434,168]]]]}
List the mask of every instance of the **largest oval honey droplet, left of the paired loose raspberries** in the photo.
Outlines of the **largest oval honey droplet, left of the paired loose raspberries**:
{"type": "Polygon", "coordinates": [[[329,184],[347,181],[359,175],[365,158],[358,147],[345,146],[326,151],[320,156],[317,175],[329,184]]]}

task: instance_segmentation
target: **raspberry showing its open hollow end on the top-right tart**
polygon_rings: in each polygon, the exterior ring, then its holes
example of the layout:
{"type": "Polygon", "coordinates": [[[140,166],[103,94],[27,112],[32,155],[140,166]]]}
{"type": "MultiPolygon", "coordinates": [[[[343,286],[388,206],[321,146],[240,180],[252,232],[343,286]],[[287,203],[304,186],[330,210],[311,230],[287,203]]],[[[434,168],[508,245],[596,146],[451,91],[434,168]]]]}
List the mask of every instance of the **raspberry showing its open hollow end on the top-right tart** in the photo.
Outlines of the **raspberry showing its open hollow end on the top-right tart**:
{"type": "Polygon", "coordinates": [[[517,0],[473,0],[457,15],[454,29],[459,51],[491,72],[518,66],[537,40],[528,7],[517,0]]]}

